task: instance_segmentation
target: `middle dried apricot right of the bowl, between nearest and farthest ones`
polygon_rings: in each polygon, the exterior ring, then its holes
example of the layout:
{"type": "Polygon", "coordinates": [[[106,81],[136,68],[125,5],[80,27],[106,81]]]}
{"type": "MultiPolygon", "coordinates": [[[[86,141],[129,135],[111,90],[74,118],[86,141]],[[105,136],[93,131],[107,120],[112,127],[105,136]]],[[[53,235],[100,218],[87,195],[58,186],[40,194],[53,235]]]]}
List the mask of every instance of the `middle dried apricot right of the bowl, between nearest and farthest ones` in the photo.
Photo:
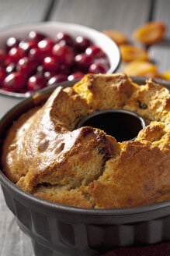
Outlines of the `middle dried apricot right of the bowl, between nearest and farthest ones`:
{"type": "Polygon", "coordinates": [[[135,59],[147,60],[147,50],[130,44],[120,45],[120,53],[124,62],[131,62],[135,59]]]}

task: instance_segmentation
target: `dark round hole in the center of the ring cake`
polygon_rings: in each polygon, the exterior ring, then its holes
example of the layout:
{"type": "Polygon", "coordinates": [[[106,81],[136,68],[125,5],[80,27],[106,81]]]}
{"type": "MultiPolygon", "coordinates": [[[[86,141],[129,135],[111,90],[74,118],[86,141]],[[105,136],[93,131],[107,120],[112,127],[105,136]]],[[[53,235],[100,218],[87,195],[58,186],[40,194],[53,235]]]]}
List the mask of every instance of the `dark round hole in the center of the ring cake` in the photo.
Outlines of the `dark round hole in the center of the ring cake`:
{"type": "Polygon", "coordinates": [[[134,112],[109,109],[86,116],[78,123],[78,128],[82,126],[99,128],[104,130],[107,135],[111,135],[117,141],[122,142],[134,140],[145,125],[144,119],[134,112]]]}

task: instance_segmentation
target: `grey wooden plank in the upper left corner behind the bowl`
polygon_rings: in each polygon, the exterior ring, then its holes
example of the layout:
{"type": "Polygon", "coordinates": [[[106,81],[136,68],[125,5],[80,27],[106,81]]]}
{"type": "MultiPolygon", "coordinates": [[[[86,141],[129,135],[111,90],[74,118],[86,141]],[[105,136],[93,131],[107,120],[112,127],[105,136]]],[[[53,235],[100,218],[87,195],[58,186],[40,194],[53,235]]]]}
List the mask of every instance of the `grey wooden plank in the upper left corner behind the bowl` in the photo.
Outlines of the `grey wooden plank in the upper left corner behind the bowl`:
{"type": "Polygon", "coordinates": [[[17,24],[42,21],[47,16],[50,1],[0,0],[0,28],[17,24]]]}

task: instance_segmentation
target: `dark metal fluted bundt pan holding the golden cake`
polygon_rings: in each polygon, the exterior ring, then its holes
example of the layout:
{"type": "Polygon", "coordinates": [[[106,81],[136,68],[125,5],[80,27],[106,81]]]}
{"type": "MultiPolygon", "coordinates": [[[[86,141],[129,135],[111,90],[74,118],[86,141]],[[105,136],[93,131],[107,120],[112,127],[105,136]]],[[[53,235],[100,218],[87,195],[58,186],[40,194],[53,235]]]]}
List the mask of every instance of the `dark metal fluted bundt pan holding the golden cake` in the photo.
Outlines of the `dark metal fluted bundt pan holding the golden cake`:
{"type": "MultiPolygon", "coordinates": [[[[133,80],[137,84],[145,82],[144,78],[133,80]]],[[[159,82],[170,88],[168,82],[159,82]]],[[[0,121],[1,140],[13,120],[53,90],[46,88],[39,97],[32,96],[12,108],[0,121]]],[[[20,228],[31,237],[36,256],[95,256],[114,247],[170,240],[170,200],[135,208],[75,208],[34,197],[16,187],[2,172],[0,181],[5,202],[20,228]]]]}

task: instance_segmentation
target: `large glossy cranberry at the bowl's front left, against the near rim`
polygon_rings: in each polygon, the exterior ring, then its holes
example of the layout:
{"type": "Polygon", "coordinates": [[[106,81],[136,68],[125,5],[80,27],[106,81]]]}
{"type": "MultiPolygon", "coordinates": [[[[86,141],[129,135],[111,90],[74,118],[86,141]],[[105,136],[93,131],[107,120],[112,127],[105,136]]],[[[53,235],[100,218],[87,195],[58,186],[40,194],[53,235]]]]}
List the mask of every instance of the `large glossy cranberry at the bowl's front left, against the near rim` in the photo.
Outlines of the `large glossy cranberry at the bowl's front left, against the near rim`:
{"type": "Polygon", "coordinates": [[[10,91],[22,91],[26,87],[26,78],[22,73],[13,72],[5,77],[2,87],[10,91]]]}

